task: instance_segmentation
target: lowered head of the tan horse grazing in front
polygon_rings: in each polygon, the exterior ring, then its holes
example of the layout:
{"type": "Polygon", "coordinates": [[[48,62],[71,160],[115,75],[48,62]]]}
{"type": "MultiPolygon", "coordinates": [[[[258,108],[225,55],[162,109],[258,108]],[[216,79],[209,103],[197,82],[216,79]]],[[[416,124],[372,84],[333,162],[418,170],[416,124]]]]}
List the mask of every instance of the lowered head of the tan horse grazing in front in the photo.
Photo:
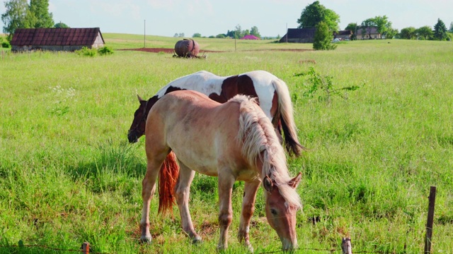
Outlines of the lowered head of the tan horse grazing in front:
{"type": "Polygon", "coordinates": [[[277,231],[277,235],[282,241],[283,250],[297,248],[296,213],[300,208],[300,204],[298,202],[292,204],[292,202],[283,197],[281,192],[284,191],[284,188],[297,188],[300,181],[300,173],[294,179],[285,183],[288,186],[277,186],[275,181],[270,179],[269,176],[265,176],[263,179],[266,217],[270,226],[277,231]]]}

